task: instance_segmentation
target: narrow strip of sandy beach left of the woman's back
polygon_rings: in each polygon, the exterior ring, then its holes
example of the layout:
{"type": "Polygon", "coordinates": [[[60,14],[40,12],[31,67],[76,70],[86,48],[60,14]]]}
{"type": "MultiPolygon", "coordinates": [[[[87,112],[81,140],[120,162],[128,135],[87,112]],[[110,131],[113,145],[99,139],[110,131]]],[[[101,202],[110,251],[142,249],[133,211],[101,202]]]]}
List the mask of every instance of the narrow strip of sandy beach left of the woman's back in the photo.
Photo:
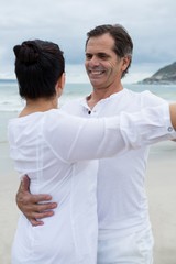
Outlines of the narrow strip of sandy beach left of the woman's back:
{"type": "Polygon", "coordinates": [[[16,173],[9,158],[8,144],[0,144],[0,263],[10,264],[12,238],[16,227],[18,208],[15,193],[19,186],[16,173]]]}

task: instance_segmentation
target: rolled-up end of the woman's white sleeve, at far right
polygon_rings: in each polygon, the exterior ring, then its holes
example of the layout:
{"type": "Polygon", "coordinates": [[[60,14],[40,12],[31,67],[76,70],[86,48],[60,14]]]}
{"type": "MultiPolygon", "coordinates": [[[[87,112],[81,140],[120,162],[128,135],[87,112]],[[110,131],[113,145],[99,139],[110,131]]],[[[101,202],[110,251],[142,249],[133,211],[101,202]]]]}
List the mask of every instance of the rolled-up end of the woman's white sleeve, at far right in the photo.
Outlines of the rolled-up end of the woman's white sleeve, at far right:
{"type": "Polygon", "coordinates": [[[176,131],[170,122],[169,103],[166,101],[140,112],[122,112],[120,119],[121,133],[131,148],[176,139],[176,131]]]}

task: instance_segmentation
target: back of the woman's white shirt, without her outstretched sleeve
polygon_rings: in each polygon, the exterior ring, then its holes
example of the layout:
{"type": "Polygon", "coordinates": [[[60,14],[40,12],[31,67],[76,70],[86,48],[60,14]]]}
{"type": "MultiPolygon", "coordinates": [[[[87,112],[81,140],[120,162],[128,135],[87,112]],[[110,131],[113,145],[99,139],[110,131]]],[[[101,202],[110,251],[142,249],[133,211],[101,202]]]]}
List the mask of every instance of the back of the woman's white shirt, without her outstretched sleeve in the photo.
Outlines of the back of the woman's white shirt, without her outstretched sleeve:
{"type": "Polygon", "coordinates": [[[69,144],[64,141],[72,141],[67,133],[61,132],[64,148],[59,144],[59,152],[55,152],[52,119],[61,127],[68,125],[59,112],[36,112],[9,124],[15,169],[29,175],[32,194],[48,193],[58,202],[54,217],[46,218],[44,226],[32,227],[24,216],[20,217],[12,251],[14,264],[96,263],[98,162],[66,161],[64,153],[69,144]]]}

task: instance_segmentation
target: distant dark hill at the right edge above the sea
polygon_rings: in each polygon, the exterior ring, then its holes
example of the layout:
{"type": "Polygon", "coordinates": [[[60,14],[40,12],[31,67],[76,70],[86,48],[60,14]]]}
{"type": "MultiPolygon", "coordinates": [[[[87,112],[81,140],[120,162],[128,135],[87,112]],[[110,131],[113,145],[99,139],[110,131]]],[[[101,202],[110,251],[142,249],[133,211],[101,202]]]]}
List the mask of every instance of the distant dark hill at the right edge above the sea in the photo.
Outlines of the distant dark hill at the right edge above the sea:
{"type": "Polygon", "coordinates": [[[151,77],[143,79],[140,84],[146,85],[173,85],[176,84],[176,62],[158,69],[151,77]]]}

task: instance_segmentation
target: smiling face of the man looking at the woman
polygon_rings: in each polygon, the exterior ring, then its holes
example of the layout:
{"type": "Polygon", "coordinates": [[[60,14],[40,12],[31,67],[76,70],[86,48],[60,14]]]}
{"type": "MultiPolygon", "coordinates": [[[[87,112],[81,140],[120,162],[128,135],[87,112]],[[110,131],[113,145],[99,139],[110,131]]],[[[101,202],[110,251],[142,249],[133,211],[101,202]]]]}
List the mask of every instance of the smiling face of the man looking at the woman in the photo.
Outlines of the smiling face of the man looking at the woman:
{"type": "Polygon", "coordinates": [[[90,37],[87,43],[85,67],[94,88],[108,88],[121,80],[123,58],[117,56],[113,46],[109,34],[90,37]]]}

